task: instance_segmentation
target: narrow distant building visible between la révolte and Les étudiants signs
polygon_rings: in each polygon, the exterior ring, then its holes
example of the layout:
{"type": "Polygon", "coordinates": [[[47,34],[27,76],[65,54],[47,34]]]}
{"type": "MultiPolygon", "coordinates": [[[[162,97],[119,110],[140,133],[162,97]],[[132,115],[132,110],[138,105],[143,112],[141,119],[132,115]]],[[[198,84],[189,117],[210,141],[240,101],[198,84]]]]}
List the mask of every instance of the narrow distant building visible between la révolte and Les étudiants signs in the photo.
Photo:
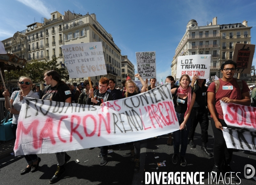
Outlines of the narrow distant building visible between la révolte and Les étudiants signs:
{"type": "Polygon", "coordinates": [[[134,77],[134,64],[129,61],[127,55],[121,57],[121,67],[122,67],[122,81],[126,80],[129,76],[132,80],[135,80],[134,77]]]}

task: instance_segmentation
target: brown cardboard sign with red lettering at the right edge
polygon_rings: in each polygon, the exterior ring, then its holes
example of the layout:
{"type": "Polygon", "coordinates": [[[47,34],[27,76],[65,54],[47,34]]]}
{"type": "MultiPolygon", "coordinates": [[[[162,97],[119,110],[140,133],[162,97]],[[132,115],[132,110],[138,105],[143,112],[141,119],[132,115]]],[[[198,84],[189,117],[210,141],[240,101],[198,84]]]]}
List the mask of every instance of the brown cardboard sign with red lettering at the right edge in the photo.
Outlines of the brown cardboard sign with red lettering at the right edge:
{"type": "Polygon", "coordinates": [[[236,62],[236,72],[250,74],[253,64],[254,44],[236,43],[233,61],[236,62]]]}

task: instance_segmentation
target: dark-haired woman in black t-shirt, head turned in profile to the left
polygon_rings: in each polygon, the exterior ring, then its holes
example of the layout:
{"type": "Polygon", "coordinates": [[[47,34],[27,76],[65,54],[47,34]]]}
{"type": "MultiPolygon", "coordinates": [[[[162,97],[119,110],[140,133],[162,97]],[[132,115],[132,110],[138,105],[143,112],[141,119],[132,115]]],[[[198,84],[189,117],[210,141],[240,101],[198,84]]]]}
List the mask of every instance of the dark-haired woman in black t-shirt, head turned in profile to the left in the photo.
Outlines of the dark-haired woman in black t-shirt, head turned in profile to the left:
{"type": "MultiPolygon", "coordinates": [[[[71,91],[61,76],[55,70],[49,70],[44,73],[44,81],[47,85],[44,88],[42,100],[60,101],[71,103],[71,91]]],[[[65,172],[64,165],[70,160],[66,152],[55,153],[57,159],[57,170],[50,180],[50,183],[57,182],[65,172]]]]}

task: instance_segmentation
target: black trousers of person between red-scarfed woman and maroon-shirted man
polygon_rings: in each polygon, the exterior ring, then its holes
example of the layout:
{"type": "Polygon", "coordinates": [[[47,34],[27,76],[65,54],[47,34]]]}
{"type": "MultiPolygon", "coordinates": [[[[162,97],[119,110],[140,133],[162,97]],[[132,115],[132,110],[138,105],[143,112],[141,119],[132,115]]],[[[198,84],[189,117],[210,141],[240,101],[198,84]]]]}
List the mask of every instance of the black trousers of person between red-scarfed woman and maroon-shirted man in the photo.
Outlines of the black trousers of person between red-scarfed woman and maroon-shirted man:
{"type": "Polygon", "coordinates": [[[208,113],[205,108],[192,108],[191,110],[191,127],[189,130],[189,140],[194,140],[195,128],[199,122],[201,127],[201,140],[203,143],[208,142],[208,127],[209,127],[209,119],[208,113]]]}

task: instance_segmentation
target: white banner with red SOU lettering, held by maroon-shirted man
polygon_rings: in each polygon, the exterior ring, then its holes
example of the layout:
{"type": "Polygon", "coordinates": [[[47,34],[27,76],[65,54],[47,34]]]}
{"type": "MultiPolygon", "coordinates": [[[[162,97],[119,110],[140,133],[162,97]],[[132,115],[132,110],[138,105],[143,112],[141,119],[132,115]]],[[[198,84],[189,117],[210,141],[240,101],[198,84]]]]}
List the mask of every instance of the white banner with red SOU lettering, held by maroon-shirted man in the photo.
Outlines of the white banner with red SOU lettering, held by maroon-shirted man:
{"type": "Polygon", "coordinates": [[[256,107],[223,101],[221,107],[227,124],[223,130],[227,147],[256,152],[256,107]]]}

